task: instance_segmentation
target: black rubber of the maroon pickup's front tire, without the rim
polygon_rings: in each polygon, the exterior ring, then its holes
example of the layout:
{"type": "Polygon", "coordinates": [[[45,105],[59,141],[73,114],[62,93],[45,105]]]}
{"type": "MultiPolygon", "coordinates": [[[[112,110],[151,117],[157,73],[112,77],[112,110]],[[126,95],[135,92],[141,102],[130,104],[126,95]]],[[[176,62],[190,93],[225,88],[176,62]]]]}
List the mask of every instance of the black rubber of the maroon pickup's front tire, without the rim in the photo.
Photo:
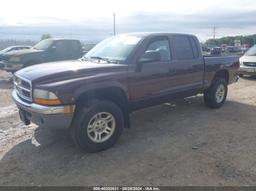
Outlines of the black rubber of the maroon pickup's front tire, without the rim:
{"type": "Polygon", "coordinates": [[[105,100],[93,100],[90,101],[87,106],[77,109],[71,126],[71,136],[80,149],[89,153],[94,153],[112,147],[122,134],[123,127],[123,113],[116,104],[105,100]],[[99,112],[110,113],[114,117],[115,128],[112,135],[106,141],[96,143],[89,137],[87,129],[90,120],[99,112]]]}

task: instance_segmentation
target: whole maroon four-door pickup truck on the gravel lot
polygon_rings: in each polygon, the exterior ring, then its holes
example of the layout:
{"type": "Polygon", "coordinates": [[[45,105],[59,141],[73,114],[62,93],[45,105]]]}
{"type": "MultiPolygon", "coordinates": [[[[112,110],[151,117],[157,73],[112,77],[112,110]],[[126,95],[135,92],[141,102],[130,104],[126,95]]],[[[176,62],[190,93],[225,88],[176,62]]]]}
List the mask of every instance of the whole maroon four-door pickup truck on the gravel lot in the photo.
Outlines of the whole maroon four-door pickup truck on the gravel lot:
{"type": "Polygon", "coordinates": [[[136,109],[198,93],[221,107],[238,69],[238,57],[203,57],[193,35],[122,34],[79,60],[16,72],[12,96],[25,124],[70,128],[81,149],[97,152],[118,140],[136,109]]]}

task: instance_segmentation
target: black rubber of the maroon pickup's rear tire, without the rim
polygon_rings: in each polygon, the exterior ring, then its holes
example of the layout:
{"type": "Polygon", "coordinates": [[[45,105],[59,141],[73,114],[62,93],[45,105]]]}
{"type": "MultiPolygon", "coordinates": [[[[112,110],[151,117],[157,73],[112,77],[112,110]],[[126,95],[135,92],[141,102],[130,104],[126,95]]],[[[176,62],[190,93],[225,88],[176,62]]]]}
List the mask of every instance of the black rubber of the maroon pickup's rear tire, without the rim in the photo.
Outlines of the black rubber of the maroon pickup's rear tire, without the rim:
{"type": "Polygon", "coordinates": [[[211,86],[204,92],[204,103],[210,108],[220,108],[226,101],[227,93],[227,81],[223,78],[216,78],[211,86]],[[218,98],[217,95],[217,90],[220,86],[224,87],[225,91],[222,99],[218,98]]]}

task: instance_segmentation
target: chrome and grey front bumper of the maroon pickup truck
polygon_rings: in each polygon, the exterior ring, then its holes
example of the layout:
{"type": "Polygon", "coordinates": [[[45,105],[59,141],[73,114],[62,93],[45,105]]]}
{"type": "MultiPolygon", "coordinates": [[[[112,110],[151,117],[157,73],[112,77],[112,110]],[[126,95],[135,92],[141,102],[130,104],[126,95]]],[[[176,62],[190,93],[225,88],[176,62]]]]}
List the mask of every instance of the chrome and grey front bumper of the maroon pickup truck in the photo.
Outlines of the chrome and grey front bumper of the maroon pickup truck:
{"type": "MultiPolygon", "coordinates": [[[[69,128],[73,119],[75,105],[42,106],[27,103],[13,90],[12,98],[26,122],[33,122],[40,127],[69,128]]],[[[24,121],[24,119],[23,119],[24,121]]]]}

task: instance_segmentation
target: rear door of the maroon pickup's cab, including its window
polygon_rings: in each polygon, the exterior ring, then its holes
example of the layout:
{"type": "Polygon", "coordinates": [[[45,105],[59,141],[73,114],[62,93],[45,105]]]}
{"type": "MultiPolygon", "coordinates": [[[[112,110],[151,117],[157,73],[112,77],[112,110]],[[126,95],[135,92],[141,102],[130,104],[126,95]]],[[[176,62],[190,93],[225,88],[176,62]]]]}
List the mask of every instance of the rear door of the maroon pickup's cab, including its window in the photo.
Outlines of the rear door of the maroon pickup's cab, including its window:
{"type": "MultiPolygon", "coordinates": [[[[204,61],[198,40],[188,35],[170,37],[173,71],[172,91],[193,95],[203,87],[204,61]]],[[[186,95],[187,94],[187,95],[186,95]]]]}

